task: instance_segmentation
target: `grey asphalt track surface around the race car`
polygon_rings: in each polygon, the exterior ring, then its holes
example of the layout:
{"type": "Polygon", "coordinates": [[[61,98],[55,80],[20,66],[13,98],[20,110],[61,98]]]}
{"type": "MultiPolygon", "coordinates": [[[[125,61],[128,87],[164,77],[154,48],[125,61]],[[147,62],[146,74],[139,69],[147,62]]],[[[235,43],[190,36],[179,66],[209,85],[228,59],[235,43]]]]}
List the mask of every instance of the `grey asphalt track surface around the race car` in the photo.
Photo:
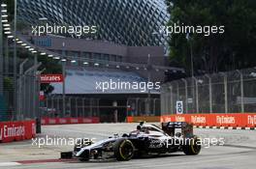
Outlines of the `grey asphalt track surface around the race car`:
{"type": "MultiPolygon", "coordinates": [[[[67,125],[43,127],[40,137],[108,138],[113,133],[133,130],[136,124],[67,125]]],[[[119,162],[114,159],[61,161],[59,153],[72,146],[46,145],[38,148],[32,141],[0,145],[0,168],[178,168],[178,169],[255,169],[256,131],[195,128],[203,138],[224,138],[224,146],[203,148],[200,155],[176,153],[119,162]]]]}

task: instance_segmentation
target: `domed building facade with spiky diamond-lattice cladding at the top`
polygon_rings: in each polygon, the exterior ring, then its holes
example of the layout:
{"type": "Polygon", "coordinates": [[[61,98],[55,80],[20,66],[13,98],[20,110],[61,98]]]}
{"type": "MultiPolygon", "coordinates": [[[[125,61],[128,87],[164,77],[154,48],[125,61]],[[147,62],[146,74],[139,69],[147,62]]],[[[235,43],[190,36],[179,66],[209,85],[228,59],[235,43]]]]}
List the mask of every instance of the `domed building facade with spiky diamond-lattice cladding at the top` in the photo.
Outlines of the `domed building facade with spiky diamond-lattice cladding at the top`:
{"type": "Polygon", "coordinates": [[[26,24],[96,25],[97,34],[83,35],[83,39],[129,46],[167,42],[159,34],[169,18],[165,0],[17,0],[17,3],[19,20],[26,24]]]}

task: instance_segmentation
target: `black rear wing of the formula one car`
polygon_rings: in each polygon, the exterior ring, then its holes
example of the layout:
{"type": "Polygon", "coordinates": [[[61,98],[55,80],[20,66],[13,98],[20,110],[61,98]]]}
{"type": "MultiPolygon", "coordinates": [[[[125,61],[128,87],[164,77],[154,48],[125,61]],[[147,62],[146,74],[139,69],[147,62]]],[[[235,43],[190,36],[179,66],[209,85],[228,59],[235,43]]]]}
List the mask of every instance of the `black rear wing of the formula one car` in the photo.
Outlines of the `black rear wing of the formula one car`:
{"type": "Polygon", "coordinates": [[[181,134],[184,137],[193,136],[193,125],[186,122],[168,122],[162,123],[162,129],[170,136],[176,135],[176,128],[181,128],[181,134]]]}

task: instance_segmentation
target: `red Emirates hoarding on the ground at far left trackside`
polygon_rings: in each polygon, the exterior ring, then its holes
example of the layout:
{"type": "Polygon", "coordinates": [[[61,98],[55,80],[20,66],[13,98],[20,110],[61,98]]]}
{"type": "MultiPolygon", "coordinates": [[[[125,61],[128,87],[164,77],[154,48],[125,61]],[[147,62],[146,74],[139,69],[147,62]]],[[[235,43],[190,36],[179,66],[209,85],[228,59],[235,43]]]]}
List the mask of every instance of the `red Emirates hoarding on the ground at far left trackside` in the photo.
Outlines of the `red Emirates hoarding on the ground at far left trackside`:
{"type": "Polygon", "coordinates": [[[0,143],[31,139],[35,135],[35,121],[0,123],[0,143]]]}

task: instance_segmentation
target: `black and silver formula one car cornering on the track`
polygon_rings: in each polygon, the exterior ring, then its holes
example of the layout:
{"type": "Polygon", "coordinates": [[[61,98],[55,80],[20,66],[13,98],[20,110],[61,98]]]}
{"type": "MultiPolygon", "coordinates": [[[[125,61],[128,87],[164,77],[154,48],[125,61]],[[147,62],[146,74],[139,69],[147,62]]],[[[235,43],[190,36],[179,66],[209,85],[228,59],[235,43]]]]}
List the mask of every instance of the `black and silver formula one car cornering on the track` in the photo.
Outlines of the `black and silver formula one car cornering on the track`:
{"type": "Polygon", "coordinates": [[[61,158],[79,158],[81,161],[114,157],[117,160],[130,160],[144,155],[162,155],[183,152],[185,155],[198,155],[201,140],[193,134],[193,126],[187,123],[163,123],[162,128],[144,122],[129,134],[115,134],[108,139],[95,142],[80,140],[73,152],[61,153],[61,158]],[[180,128],[180,132],[176,132],[180,128]]]}

